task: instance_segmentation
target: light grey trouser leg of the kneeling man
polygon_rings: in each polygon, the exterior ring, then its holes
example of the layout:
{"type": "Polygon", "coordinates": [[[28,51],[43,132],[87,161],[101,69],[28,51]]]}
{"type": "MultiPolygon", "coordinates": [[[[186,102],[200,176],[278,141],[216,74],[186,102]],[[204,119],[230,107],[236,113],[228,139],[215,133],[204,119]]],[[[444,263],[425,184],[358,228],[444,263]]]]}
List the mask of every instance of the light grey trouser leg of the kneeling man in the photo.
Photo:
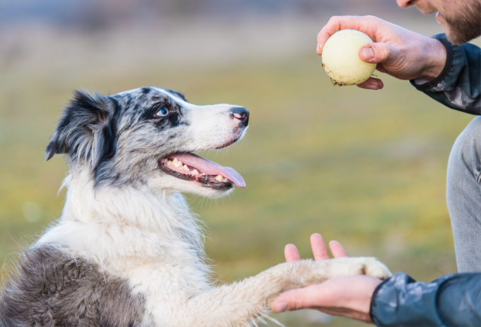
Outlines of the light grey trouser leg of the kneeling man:
{"type": "Polygon", "coordinates": [[[454,143],[446,199],[458,272],[481,272],[481,116],[454,143]]]}

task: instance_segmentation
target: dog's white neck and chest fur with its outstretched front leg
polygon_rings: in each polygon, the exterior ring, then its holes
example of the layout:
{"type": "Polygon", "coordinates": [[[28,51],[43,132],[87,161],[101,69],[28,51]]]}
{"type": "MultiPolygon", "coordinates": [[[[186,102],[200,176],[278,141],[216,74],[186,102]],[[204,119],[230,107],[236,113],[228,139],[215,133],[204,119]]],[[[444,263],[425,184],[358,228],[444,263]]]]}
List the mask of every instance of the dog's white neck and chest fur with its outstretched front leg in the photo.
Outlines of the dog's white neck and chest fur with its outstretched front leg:
{"type": "Polygon", "coordinates": [[[192,251],[202,234],[182,195],[134,189],[95,193],[83,173],[69,176],[66,185],[62,218],[39,243],[68,243],[73,256],[91,258],[129,280],[147,299],[144,326],[245,326],[288,289],[364,272],[389,275],[371,258],[303,260],[212,288],[209,267],[192,251]],[[185,234],[176,231],[180,226],[185,234]]]}

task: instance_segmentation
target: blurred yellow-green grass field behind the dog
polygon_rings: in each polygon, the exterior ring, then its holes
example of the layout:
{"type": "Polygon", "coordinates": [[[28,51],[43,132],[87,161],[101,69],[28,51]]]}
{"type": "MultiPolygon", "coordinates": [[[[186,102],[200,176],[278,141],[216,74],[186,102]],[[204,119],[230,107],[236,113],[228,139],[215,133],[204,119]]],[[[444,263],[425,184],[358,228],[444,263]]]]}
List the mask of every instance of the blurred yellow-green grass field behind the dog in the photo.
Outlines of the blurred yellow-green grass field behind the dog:
{"type": "MultiPolygon", "coordinates": [[[[207,253],[219,280],[281,263],[286,243],[311,257],[314,232],[340,241],[350,256],[376,256],[417,280],[456,272],[446,164],[473,117],[431,101],[407,81],[382,77],[382,91],[334,87],[311,53],[214,68],[151,62],[128,71],[3,67],[0,260],[8,265],[12,253],[61,213],[64,192],[57,190],[66,161],[45,162],[43,151],[70,88],[117,93],[155,85],[185,92],[192,103],[250,110],[240,144],[202,154],[236,168],[247,188],[219,200],[189,196],[208,226],[207,253]]],[[[317,326],[319,319],[327,326],[362,325],[306,311],[274,317],[288,326],[317,326]]]]}

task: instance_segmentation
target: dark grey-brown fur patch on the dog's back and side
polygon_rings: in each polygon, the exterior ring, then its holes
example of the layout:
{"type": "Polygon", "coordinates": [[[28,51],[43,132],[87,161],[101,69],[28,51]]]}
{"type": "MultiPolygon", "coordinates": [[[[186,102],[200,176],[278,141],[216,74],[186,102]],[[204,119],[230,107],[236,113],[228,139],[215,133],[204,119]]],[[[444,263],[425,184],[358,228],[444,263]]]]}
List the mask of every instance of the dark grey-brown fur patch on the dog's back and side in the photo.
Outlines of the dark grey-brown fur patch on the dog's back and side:
{"type": "Polygon", "coordinates": [[[140,326],[144,296],[95,263],[52,246],[23,253],[1,301],[3,326],[140,326]]]}

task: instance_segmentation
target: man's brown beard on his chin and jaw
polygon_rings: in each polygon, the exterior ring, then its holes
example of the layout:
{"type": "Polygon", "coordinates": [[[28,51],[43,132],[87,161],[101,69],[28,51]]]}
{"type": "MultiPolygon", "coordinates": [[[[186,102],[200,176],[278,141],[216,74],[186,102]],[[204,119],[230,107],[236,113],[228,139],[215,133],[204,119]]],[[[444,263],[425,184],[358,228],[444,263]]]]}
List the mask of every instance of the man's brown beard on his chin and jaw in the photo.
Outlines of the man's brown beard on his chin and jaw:
{"type": "Polygon", "coordinates": [[[446,38],[449,42],[454,45],[461,45],[481,35],[481,8],[478,6],[473,9],[460,19],[445,17],[446,23],[448,23],[446,38]]]}

